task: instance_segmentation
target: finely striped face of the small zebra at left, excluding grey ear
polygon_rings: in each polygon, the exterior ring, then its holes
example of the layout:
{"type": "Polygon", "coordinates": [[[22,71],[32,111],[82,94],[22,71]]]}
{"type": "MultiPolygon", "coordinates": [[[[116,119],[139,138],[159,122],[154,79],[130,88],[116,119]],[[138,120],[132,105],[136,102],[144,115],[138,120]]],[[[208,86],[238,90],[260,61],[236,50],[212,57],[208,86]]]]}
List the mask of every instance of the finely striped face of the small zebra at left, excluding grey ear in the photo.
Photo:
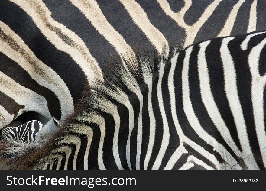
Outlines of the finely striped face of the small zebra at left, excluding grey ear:
{"type": "Polygon", "coordinates": [[[41,130],[43,124],[40,121],[32,120],[17,127],[6,126],[1,129],[0,135],[4,140],[19,141],[24,144],[33,144],[36,134],[41,130]]]}

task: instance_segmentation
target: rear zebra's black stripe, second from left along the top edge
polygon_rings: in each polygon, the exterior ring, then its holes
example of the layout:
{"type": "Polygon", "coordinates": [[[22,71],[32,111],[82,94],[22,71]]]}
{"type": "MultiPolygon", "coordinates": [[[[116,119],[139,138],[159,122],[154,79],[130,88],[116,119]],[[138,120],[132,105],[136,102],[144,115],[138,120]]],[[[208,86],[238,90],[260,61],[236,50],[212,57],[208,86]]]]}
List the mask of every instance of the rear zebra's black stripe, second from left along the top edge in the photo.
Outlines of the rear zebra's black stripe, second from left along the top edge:
{"type": "Polygon", "coordinates": [[[112,54],[118,57],[118,54],[114,47],[92,26],[83,13],[69,1],[44,0],[44,3],[50,9],[52,18],[75,32],[84,41],[86,47],[88,47],[91,55],[97,60],[102,70],[109,71],[106,67],[109,55],[112,54]]]}

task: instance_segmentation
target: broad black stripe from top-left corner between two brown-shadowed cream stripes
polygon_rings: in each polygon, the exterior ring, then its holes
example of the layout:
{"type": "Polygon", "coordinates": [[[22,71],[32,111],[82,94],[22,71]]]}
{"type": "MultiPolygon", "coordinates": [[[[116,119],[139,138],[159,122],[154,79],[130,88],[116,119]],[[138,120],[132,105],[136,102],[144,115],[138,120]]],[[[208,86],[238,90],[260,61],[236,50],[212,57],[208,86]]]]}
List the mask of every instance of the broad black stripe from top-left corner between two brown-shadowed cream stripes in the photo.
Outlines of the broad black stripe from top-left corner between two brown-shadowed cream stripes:
{"type": "Polygon", "coordinates": [[[68,54],[57,50],[20,7],[7,0],[3,0],[1,4],[5,8],[1,10],[0,20],[24,40],[37,58],[58,73],[69,88],[73,101],[76,102],[86,82],[86,77],[78,64],[68,54]]]}

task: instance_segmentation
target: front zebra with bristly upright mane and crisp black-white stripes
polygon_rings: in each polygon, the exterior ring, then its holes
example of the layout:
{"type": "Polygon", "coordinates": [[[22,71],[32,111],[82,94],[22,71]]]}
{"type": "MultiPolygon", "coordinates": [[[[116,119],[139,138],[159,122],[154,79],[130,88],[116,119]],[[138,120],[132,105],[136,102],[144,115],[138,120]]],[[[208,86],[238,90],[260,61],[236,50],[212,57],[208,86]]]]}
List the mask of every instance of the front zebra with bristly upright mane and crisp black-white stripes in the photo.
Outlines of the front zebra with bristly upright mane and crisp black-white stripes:
{"type": "Polygon", "coordinates": [[[0,143],[9,169],[265,169],[266,31],[112,59],[62,128],[0,143]],[[8,148],[8,149],[7,149],[8,148]],[[17,152],[19,151],[19,152],[17,152]]]}

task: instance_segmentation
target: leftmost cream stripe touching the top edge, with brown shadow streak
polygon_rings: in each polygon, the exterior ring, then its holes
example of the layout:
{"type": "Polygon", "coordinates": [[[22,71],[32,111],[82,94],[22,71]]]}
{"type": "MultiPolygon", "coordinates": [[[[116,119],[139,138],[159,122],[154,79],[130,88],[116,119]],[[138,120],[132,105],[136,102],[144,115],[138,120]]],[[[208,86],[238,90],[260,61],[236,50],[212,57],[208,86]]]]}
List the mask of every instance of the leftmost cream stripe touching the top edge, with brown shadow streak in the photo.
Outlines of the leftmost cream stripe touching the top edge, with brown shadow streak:
{"type": "Polygon", "coordinates": [[[63,24],[55,21],[51,17],[51,12],[40,0],[11,0],[18,6],[20,6],[34,21],[44,36],[54,46],[61,51],[69,54],[73,60],[80,66],[85,73],[89,83],[93,82],[93,79],[103,80],[101,69],[90,54],[83,40],[77,36],[73,31],[69,30],[63,24]],[[49,26],[50,25],[50,26],[49,26]],[[66,44],[62,37],[60,37],[51,28],[60,29],[64,35],[70,38],[73,42],[71,45],[66,44]],[[75,44],[73,44],[75,43],[75,44]]]}

